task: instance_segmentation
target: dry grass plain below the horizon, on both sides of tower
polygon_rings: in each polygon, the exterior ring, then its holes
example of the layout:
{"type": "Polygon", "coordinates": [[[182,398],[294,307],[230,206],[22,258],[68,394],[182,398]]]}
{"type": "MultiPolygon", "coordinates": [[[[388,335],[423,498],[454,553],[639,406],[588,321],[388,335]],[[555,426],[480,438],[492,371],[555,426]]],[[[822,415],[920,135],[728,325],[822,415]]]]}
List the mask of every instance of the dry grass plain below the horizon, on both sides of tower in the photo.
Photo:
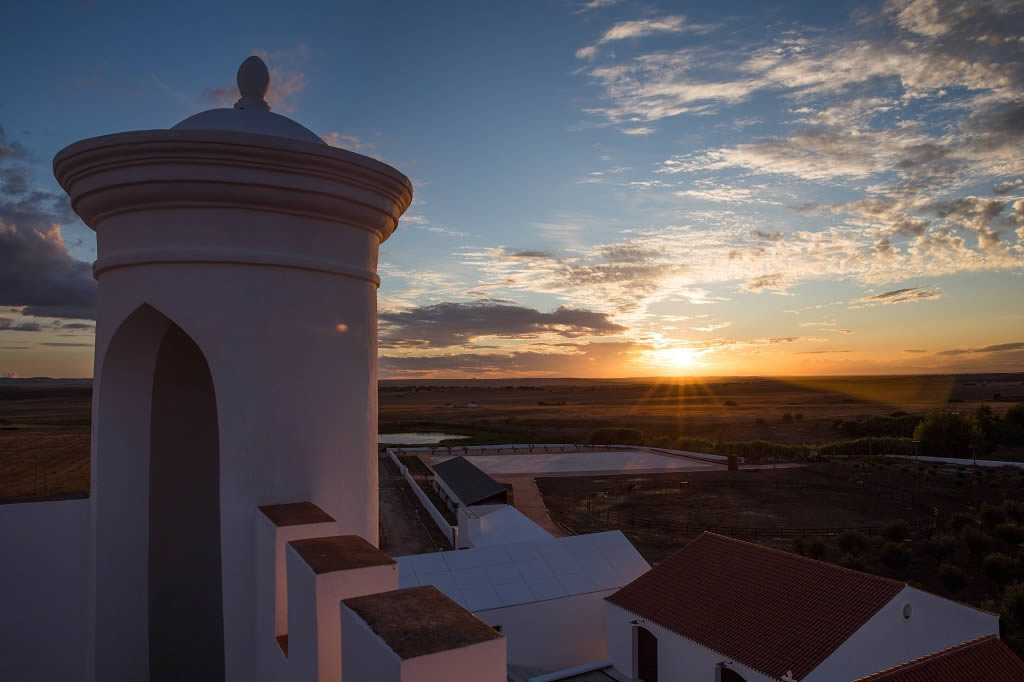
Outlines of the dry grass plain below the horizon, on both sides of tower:
{"type": "MultiPolygon", "coordinates": [[[[1001,413],[1024,374],[793,379],[383,381],[380,430],[466,442],[585,440],[625,426],[727,440],[844,439],[837,419],[937,408],[1001,413]],[[993,397],[998,399],[993,400],[993,397]],[[455,407],[473,403],[477,407],[455,407]],[[802,419],[783,422],[785,413],[802,419]],[[759,423],[758,420],[763,420],[759,423]]],[[[88,495],[91,382],[0,380],[0,502],[88,495]]]]}

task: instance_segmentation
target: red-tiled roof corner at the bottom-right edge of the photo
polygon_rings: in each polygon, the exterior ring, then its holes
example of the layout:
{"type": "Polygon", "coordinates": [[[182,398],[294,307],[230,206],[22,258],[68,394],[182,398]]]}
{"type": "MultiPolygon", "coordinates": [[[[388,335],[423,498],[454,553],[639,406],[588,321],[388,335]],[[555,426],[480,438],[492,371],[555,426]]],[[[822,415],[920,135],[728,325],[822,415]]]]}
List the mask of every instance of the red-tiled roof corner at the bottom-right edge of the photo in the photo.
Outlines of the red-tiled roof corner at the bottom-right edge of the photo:
{"type": "Polygon", "coordinates": [[[856,682],[1020,682],[1021,662],[995,635],[914,658],[856,682]]]}

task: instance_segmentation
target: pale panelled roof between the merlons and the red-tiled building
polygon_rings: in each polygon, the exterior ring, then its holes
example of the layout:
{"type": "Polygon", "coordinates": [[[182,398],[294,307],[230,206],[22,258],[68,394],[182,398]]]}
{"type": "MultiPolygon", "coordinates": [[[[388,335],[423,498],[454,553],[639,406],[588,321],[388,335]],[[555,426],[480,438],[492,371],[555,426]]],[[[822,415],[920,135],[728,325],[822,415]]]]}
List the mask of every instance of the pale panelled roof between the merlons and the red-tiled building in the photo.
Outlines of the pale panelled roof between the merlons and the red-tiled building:
{"type": "Polygon", "coordinates": [[[650,569],[618,530],[397,557],[398,587],[433,585],[471,611],[613,590],[650,569]]]}

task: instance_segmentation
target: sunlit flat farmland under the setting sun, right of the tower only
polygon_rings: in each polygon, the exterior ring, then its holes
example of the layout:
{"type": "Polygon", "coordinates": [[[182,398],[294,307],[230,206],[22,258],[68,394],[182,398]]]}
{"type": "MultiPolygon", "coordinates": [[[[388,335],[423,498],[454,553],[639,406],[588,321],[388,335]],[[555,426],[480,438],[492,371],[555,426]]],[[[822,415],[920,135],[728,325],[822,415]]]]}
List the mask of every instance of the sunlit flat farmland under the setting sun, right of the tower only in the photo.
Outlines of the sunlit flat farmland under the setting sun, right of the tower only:
{"type": "Polygon", "coordinates": [[[464,433],[481,442],[579,441],[602,426],[726,440],[828,442],[844,439],[834,428],[838,419],[970,411],[982,402],[1001,414],[1022,397],[1022,374],[383,381],[380,427],[464,433]],[[801,417],[783,422],[786,413],[801,417]]]}

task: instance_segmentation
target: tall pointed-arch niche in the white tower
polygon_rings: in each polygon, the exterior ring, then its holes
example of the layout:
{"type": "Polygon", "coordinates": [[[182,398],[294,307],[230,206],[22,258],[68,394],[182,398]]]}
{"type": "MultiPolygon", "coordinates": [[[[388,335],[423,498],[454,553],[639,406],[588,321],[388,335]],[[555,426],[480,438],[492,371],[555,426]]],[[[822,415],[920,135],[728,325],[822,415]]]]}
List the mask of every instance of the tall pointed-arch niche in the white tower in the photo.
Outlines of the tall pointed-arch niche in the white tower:
{"type": "Polygon", "coordinates": [[[223,680],[219,429],[206,357],[143,305],[112,337],[97,383],[96,433],[111,441],[93,472],[96,531],[115,515],[121,528],[95,554],[99,677],[124,673],[129,650],[130,668],[153,682],[223,680]]]}

